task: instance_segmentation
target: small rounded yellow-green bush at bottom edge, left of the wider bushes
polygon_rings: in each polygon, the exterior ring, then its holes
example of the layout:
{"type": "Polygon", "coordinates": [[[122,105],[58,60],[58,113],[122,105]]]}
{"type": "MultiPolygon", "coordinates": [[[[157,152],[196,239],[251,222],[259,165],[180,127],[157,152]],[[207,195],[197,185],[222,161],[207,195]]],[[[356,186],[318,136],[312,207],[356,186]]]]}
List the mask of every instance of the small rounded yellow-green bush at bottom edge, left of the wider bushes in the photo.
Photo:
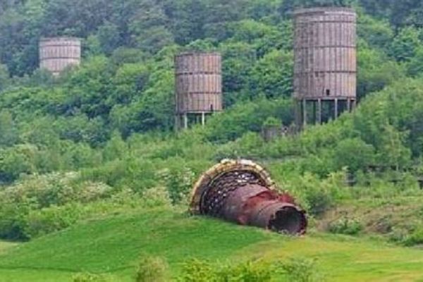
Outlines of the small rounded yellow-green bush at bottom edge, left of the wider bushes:
{"type": "Polygon", "coordinates": [[[136,282],[166,281],[166,262],[159,257],[142,257],[135,274],[136,282]]]}

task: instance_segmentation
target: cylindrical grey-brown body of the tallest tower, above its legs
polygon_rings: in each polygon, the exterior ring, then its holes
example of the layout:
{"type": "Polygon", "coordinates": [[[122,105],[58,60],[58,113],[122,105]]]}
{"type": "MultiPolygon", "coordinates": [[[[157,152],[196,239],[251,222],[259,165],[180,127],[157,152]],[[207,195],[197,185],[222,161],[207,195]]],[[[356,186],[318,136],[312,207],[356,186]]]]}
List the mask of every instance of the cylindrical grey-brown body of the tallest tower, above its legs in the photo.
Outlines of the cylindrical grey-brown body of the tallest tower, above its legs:
{"type": "Polygon", "coordinates": [[[357,15],[351,8],[323,7],[295,11],[294,97],[356,97],[357,15]]]}

